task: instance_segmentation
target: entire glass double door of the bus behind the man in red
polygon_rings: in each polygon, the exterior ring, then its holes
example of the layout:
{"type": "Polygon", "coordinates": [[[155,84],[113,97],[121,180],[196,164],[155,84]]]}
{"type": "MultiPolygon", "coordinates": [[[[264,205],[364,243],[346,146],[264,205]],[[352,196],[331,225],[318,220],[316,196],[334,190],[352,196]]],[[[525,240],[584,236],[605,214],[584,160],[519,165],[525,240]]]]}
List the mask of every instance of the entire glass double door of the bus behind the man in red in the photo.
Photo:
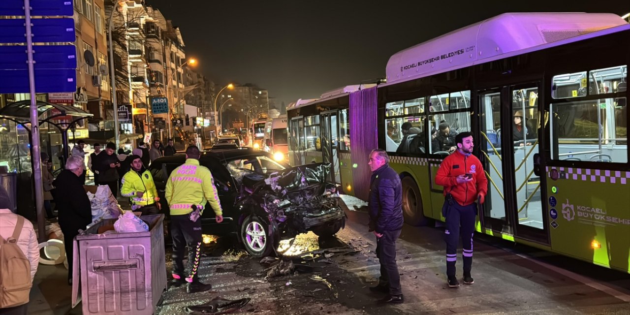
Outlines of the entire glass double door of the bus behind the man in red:
{"type": "Polygon", "coordinates": [[[532,83],[478,92],[478,143],[489,182],[481,221],[486,229],[548,243],[544,190],[534,174],[538,91],[538,84],[532,83]]]}

